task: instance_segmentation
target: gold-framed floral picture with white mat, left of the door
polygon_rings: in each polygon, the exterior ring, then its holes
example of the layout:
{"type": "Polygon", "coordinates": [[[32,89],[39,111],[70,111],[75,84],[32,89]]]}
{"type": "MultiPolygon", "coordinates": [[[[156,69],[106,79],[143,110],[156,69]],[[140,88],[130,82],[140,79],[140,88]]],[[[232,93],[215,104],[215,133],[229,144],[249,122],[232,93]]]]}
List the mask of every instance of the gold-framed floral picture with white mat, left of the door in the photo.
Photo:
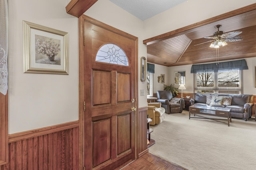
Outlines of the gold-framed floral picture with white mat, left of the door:
{"type": "Polygon", "coordinates": [[[68,74],[68,33],[23,21],[24,73],[68,74]]]}

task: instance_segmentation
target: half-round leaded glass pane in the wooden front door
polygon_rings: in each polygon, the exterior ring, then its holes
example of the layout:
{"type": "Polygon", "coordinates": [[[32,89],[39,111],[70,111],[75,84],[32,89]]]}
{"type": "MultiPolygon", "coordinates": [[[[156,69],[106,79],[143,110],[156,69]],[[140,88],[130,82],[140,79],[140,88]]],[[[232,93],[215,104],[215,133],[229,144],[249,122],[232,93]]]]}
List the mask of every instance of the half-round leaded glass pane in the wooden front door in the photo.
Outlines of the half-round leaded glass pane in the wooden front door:
{"type": "Polygon", "coordinates": [[[100,47],[96,55],[96,61],[129,66],[129,62],[124,50],[122,50],[118,45],[112,43],[105,44],[100,47]]]}

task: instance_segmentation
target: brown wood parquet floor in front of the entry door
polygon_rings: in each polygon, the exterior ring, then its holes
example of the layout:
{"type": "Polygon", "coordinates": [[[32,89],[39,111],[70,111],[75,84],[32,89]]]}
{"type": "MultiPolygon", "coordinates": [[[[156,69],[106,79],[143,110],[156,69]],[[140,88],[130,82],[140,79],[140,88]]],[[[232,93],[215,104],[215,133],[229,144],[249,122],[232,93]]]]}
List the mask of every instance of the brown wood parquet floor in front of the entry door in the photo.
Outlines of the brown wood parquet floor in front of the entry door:
{"type": "Polygon", "coordinates": [[[186,170],[151,153],[146,153],[122,170],[186,170]]]}

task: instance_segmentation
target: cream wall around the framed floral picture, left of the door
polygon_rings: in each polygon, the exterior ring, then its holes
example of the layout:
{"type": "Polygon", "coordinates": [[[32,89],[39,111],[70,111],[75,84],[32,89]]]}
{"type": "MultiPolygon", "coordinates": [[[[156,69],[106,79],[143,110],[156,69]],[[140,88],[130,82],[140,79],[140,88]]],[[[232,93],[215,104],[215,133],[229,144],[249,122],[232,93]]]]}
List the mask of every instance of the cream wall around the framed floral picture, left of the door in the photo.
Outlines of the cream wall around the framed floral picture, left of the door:
{"type": "Polygon", "coordinates": [[[78,120],[78,18],[67,0],[9,0],[9,134],[78,120]],[[69,75],[23,73],[22,20],[69,33],[69,75]]]}

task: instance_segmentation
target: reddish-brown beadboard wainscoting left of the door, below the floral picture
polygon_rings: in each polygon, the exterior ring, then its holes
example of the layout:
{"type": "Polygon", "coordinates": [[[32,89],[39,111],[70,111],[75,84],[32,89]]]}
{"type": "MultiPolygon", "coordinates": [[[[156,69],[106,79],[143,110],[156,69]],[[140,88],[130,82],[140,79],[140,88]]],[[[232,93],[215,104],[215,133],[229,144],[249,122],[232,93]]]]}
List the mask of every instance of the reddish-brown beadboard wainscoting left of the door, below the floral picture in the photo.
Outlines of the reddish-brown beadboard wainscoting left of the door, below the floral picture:
{"type": "Polygon", "coordinates": [[[0,170],[78,170],[78,121],[9,135],[0,170]]]}

